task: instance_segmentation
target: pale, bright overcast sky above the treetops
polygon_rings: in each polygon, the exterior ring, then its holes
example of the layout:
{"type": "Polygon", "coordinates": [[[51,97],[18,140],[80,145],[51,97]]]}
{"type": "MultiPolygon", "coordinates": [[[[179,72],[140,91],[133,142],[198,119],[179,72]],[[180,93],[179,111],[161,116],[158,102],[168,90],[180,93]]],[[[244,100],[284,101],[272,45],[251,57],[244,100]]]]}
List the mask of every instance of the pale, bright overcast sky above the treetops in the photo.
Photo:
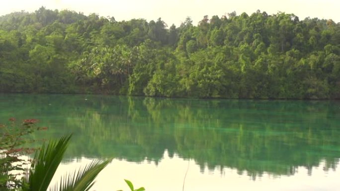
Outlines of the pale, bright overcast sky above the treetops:
{"type": "Polygon", "coordinates": [[[300,20],[305,17],[333,19],[340,22],[340,0],[3,0],[0,15],[13,11],[69,9],[77,12],[113,16],[117,21],[145,18],[147,21],[162,18],[169,26],[178,26],[187,16],[197,24],[204,15],[222,16],[233,12],[251,14],[257,9],[274,14],[278,11],[294,13],[300,20]]]}

